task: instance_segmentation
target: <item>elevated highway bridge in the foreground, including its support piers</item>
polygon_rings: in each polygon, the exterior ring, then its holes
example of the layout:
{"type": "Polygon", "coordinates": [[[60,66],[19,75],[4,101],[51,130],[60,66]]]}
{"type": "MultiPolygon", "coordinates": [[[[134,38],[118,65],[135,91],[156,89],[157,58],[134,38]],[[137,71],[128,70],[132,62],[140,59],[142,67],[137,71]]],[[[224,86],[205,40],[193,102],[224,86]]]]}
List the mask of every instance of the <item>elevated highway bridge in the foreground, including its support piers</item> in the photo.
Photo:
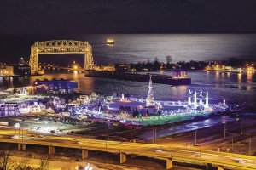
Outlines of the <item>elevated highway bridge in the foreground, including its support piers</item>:
{"type": "Polygon", "coordinates": [[[119,162],[121,164],[125,163],[128,156],[132,159],[135,159],[136,156],[145,156],[165,160],[166,169],[172,169],[173,161],[186,161],[191,164],[204,164],[208,169],[211,169],[211,167],[218,167],[219,170],[225,168],[256,170],[255,156],[244,156],[210,150],[201,150],[199,152],[199,150],[159,144],[122,143],[118,141],[74,138],[70,136],[44,136],[42,138],[26,137],[23,139],[9,139],[2,137],[0,143],[17,144],[18,150],[26,150],[27,144],[47,146],[49,155],[55,154],[55,147],[79,149],[81,150],[82,159],[88,158],[90,150],[108,152],[119,154],[119,162]],[[241,164],[236,162],[236,159],[241,159],[246,163],[241,164]]]}

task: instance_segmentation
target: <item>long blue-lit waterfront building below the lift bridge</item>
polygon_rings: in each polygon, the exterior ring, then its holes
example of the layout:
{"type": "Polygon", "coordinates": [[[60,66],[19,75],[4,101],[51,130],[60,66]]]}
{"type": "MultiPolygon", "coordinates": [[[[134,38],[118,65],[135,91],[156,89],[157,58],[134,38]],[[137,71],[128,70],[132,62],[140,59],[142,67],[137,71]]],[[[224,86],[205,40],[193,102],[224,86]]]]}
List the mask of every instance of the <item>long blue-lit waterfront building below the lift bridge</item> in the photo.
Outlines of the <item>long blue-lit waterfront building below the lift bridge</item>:
{"type": "Polygon", "coordinates": [[[49,93],[61,93],[61,94],[66,94],[66,93],[73,93],[77,91],[78,88],[78,82],[73,81],[73,80],[36,80],[34,81],[34,86],[38,85],[44,85],[47,88],[44,90],[43,88],[37,88],[38,91],[47,91],[49,93]]]}

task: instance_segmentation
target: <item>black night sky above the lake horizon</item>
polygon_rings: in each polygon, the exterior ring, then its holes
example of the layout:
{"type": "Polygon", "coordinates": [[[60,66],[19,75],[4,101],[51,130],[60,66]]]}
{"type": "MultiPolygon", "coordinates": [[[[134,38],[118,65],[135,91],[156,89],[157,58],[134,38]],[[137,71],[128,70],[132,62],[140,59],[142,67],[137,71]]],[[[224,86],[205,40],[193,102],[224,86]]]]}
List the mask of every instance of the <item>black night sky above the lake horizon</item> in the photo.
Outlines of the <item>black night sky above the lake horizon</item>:
{"type": "Polygon", "coordinates": [[[1,0],[1,34],[255,32],[255,0],[1,0]]]}

